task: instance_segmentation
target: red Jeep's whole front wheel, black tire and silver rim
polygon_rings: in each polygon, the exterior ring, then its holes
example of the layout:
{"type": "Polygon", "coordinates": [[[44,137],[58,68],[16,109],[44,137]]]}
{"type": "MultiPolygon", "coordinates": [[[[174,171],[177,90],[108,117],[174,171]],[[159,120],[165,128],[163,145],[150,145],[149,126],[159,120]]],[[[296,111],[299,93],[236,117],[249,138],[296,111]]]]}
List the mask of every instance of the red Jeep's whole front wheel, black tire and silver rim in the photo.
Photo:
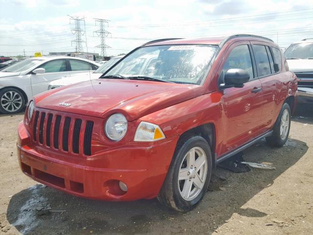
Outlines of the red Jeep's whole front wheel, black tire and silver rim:
{"type": "Polygon", "coordinates": [[[191,211],[201,201],[206,192],[211,172],[212,152],[209,144],[201,136],[188,135],[182,138],[176,147],[172,163],[157,199],[170,209],[191,211]],[[195,156],[196,160],[192,165],[192,169],[191,164],[193,161],[191,156],[195,156]],[[194,168],[197,166],[197,162],[200,169],[199,167],[198,169],[194,168]],[[202,163],[202,166],[200,163],[202,163]],[[179,180],[179,176],[186,179],[179,180]]]}

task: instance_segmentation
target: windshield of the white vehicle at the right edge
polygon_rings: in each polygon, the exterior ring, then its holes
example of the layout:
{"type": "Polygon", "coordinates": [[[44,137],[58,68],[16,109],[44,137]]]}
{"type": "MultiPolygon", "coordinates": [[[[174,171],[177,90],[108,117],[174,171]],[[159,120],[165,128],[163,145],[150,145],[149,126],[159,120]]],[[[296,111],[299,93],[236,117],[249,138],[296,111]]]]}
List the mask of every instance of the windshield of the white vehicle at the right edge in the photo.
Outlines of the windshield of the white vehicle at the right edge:
{"type": "Polygon", "coordinates": [[[291,44],[284,55],[286,59],[313,59],[313,43],[291,44]]]}

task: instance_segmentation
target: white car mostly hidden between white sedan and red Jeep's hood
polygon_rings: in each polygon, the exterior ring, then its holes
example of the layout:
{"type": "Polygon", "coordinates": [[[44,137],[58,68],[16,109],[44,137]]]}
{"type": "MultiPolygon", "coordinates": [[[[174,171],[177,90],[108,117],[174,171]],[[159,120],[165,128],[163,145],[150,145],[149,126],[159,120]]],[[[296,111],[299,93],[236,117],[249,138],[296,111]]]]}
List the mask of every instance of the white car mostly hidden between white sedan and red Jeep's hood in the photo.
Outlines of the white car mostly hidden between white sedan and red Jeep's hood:
{"type": "Polygon", "coordinates": [[[48,90],[67,86],[70,84],[74,84],[77,82],[84,82],[88,81],[90,79],[96,79],[99,78],[105,71],[110,69],[111,66],[113,66],[117,61],[119,61],[123,56],[115,56],[111,60],[109,60],[107,63],[101,65],[96,71],[90,73],[90,72],[82,72],[78,73],[71,77],[62,77],[60,79],[54,80],[50,82],[48,86],[48,90]]]}

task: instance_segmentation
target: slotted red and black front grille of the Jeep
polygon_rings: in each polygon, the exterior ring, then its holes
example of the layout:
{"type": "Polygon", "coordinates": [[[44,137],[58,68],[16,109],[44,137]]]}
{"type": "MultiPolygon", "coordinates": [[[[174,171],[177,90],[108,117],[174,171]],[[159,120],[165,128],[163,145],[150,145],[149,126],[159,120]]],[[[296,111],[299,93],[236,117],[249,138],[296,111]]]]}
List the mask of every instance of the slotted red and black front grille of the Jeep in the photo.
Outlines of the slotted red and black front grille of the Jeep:
{"type": "Polygon", "coordinates": [[[91,155],[93,121],[36,111],[33,140],[55,151],[91,155]],[[81,132],[83,133],[81,134],[81,132]],[[80,148],[80,144],[83,147],[80,148]],[[62,146],[61,146],[62,145],[62,146]],[[52,148],[53,149],[53,148],[52,148]]]}

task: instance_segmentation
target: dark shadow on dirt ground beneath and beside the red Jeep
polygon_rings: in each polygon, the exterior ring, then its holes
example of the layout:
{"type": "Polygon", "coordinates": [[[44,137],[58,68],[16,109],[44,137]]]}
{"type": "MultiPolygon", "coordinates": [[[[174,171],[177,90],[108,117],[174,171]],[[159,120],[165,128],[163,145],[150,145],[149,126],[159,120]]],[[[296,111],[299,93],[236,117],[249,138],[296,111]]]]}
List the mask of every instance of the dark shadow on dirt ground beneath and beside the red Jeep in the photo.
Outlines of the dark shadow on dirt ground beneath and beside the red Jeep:
{"type": "Polygon", "coordinates": [[[262,140],[244,151],[247,162],[272,163],[276,170],[232,173],[215,169],[209,192],[195,210],[187,213],[168,210],[156,199],[95,201],[38,184],[12,196],[7,219],[22,234],[211,234],[234,213],[248,217],[267,215],[242,206],[271,186],[307,152],[305,142],[289,139],[288,143],[271,148],[262,140]]]}

